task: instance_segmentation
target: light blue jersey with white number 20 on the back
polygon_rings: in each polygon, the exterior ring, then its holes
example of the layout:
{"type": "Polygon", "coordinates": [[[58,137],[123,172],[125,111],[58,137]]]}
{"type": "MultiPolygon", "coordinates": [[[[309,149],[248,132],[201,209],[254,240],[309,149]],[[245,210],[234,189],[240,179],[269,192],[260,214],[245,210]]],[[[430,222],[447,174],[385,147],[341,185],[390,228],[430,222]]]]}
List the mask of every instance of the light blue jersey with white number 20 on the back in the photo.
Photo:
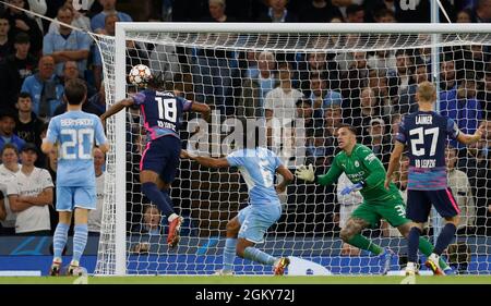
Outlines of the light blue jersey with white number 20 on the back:
{"type": "Polygon", "coordinates": [[[53,117],[46,138],[58,143],[57,186],[94,186],[94,140],[107,143],[100,119],[83,111],[53,117]]]}

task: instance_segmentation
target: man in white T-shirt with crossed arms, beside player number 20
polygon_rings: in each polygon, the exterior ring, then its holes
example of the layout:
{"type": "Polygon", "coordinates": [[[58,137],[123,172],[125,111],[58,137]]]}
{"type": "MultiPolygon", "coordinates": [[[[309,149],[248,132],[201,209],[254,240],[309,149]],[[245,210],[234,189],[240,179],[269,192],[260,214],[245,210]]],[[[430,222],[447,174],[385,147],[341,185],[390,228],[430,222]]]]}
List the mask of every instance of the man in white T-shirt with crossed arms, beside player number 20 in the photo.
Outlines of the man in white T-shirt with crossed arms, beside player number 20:
{"type": "Polygon", "coordinates": [[[22,167],[7,188],[10,208],[17,213],[15,234],[49,235],[49,205],[52,205],[53,184],[48,170],[34,166],[37,158],[34,144],[21,150],[22,167]]]}

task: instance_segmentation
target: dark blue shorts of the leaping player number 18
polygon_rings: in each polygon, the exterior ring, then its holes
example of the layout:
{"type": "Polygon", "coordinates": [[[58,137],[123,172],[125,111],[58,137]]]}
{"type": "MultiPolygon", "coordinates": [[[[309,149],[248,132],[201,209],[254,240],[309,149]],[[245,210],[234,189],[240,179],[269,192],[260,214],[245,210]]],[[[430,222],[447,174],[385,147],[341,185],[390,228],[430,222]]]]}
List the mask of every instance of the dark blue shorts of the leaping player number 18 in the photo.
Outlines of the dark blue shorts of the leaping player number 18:
{"type": "Polygon", "coordinates": [[[151,170],[166,183],[172,183],[179,167],[181,140],[173,136],[161,136],[148,142],[143,151],[140,171],[151,170]]]}

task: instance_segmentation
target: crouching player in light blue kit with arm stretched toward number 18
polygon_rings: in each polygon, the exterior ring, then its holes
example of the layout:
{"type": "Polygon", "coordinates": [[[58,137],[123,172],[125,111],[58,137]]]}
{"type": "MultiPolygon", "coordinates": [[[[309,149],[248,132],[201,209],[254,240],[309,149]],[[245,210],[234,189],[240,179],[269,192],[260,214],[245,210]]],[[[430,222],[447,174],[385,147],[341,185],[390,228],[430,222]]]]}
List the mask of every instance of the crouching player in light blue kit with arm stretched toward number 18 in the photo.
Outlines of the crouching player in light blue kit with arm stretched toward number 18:
{"type": "Polygon", "coordinates": [[[267,229],[282,216],[277,193],[286,191],[287,185],[294,180],[294,174],[273,151],[263,147],[238,149],[226,158],[191,156],[185,150],[182,150],[181,156],[208,168],[238,167],[248,185],[249,206],[241,209],[238,216],[227,223],[223,269],[218,270],[217,274],[233,274],[233,259],[237,254],[241,258],[273,266],[274,273],[283,276],[290,264],[288,257],[275,258],[256,248],[255,244],[264,242],[267,229]],[[284,178],[276,188],[275,173],[284,178]]]}

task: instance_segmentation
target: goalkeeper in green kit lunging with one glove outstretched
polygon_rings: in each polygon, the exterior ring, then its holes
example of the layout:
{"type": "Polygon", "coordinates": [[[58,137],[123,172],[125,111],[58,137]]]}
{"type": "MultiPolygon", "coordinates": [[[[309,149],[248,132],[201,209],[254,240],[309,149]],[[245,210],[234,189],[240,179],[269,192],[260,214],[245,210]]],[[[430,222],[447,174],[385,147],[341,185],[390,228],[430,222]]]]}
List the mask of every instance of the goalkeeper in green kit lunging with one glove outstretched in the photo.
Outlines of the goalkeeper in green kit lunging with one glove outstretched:
{"type": "MultiPolygon", "coordinates": [[[[380,159],[368,147],[357,144],[356,128],[343,124],[337,130],[338,147],[342,149],[336,155],[327,174],[319,175],[316,182],[321,185],[331,185],[345,172],[352,185],[345,187],[340,194],[347,195],[360,191],[363,203],[351,213],[345,228],[340,231],[340,238],[352,246],[369,250],[380,256],[382,273],[385,274],[391,266],[393,252],[383,248],[360,233],[363,229],[375,227],[381,219],[385,219],[392,227],[397,228],[403,236],[407,238],[410,230],[410,220],[406,219],[406,207],[399,191],[394,183],[385,189],[385,169],[380,159]]],[[[315,181],[312,164],[301,166],[296,171],[298,179],[315,181]]],[[[419,238],[419,249],[426,256],[433,252],[433,245],[427,240],[419,238]]],[[[445,272],[452,269],[440,260],[445,272]]]]}

